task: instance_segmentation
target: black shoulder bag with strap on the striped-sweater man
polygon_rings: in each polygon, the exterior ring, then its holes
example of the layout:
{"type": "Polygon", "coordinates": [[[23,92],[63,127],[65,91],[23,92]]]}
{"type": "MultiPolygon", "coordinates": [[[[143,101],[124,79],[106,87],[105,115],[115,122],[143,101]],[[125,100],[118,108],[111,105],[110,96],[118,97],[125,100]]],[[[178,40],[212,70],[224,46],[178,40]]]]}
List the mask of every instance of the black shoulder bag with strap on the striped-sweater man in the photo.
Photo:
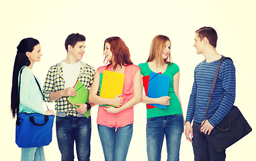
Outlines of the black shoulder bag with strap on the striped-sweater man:
{"type": "MultiPolygon", "coordinates": [[[[212,83],[212,90],[209,95],[205,119],[208,113],[210,101],[212,99],[212,93],[214,91],[214,87],[218,77],[218,71],[220,70],[220,64],[225,59],[226,57],[223,56],[218,62],[218,67],[216,68],[214,80],[212,83]]],[[[228,59],[232,60],[231,58],[228,59]]],[[[249,123],[247,123],[245,117],[243,117],[241,111],[239,111],[239,109],[233,105],[228,115],[226,115],[226,117],[224,117],[224,119],[222,119],[222,121],[220,121],[220,123],[216,125],[214,129],[212,129],[210,135],[206,134],[206,139],[216,152],[223,152],[223,150],[225,150],[235,142],[241,140],[241,138],[246,136],[251,131],[252,128],[249,123]]]]}

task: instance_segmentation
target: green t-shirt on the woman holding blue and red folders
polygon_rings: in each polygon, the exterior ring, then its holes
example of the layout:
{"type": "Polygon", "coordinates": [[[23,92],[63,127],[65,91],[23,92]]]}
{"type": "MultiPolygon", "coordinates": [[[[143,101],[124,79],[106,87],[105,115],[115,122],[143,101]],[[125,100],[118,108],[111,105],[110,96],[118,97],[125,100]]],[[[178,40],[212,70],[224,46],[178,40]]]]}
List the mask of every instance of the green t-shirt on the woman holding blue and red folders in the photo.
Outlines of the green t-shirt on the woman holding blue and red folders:
{"type": "MultiPolygon", "coordinates": [[[[138,66],[141,68],[142,76],[148,76],[153,72],[151,68],[149,68],[148,62],[140,63],[138,66]]],[[[168,91],[168,96],[171,97],[170,104],[167,105],[166,109],[158,107],[146,109],[146,118],[182,114],[181,104],[179,103],[179,99],[173,89],[173,76],[177,74],[177,72],[179,72],[179,66],[175,63],[171,63],[167,66],[167,70],[162,73],[163,75],[171,77],[168,91]]]]}

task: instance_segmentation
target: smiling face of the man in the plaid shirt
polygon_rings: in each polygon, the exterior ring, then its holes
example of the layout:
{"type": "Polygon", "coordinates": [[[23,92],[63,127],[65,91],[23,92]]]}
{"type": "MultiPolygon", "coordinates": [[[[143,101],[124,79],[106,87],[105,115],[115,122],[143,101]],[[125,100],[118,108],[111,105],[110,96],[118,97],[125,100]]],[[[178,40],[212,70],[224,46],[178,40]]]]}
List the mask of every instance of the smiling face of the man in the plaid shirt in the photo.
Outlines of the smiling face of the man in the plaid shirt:
{"type": "Polygon", "coordinates": [[[69,45],[69,50],[76,60],[81,60],[85,54],[85,42],[77,42],[74,47],[69,45]]]}

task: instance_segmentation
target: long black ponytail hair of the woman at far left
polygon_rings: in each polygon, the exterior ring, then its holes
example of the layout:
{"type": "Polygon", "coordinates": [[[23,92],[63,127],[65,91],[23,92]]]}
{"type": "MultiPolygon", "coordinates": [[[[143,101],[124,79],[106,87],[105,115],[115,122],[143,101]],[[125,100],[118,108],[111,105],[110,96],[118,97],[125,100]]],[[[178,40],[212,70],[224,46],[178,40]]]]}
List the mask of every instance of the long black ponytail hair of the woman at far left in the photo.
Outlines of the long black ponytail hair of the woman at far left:
{"type": "Polygon", "coordinates": [[[34,38],[25,38],[17,46],[17,54],[13,66],[13,80],[11,86],[11,112],[13,118],[16,111],[19,111],[19,97],[18,97],[18,75],[22,66],[29,66],[30,60],[26,56],[26,52],[32,52],[34,46],[39,44],[38,40],[34,38]]]}

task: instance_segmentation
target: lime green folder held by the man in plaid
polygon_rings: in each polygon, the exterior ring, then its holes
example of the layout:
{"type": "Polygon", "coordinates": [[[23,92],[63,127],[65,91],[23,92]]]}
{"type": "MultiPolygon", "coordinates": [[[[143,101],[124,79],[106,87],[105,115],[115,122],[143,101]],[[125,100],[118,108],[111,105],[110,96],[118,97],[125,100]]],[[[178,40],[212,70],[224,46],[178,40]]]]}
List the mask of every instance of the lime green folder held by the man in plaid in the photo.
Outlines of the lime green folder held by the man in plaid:
{"type": "MultiPolygon", "coordinates": [[[[69,96],[68,101],[71,103],[73,106],[78,108],[78,105],[74,105],[75,103],[87,103],[88,102],[88,97],[89,97],[89,91],[85,88],[85,86],[81,83],[80,80],[77,80],[77,83],[75,83],[74,89],[77,93],[75,97],[69,96]]],[[[90,115],[91,109],[85,112],[85,116],[88,118],[90,115]]]]}

